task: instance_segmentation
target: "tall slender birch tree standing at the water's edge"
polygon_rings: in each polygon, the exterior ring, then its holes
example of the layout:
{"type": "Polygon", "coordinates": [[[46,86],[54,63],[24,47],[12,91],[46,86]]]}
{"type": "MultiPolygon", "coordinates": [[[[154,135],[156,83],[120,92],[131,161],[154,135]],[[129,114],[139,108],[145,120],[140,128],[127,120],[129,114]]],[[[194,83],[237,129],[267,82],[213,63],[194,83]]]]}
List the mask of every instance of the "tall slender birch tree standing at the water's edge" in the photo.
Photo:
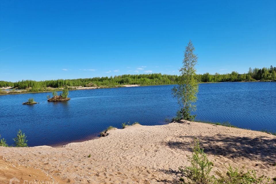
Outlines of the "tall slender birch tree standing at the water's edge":
{"type": "Polygon", "coordinates": [[[181,74],[176,79],[178,85],[172,89],[180,105],[181,119],[185,120],[193,120],[194,116],[190,115],[190,111],[196,109],[193,103],[196,102],[198,93],[198,76],[195,68],[198,57],[193,53],[194,50],[192,42],[189,41],[184,52],[183,66],[179,70],[181,74]]]}

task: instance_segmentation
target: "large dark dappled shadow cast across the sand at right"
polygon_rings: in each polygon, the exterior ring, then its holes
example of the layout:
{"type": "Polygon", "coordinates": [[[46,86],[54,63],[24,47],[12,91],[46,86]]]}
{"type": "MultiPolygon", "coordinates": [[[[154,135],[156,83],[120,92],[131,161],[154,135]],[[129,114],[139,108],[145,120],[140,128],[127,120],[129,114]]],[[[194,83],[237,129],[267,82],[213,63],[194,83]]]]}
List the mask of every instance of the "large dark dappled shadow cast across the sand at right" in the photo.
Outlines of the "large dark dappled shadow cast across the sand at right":
{"type": "Polygon", "coordinates": [[[266,136],[257,138],[227,136],[217,134],[216,136],[181,136],[184,140],[179,142],[168,142],[167,145],[174,149],[191,150],[193,142],[186,142],[198,138],[200,145],[206,154],[222,155],[231,158],[244,157],[250,160],[261,160],[268,164],[276,163],[276,136],[271,139],[266,136]]]}

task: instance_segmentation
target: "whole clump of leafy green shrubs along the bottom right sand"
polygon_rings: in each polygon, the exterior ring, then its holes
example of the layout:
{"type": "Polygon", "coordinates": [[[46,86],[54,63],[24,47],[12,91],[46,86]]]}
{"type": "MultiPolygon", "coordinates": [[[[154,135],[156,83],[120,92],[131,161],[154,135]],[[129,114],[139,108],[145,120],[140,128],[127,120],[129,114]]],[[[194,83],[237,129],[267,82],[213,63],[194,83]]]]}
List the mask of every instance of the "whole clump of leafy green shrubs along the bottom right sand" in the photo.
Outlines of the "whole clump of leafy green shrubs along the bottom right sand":
{"type": "Polygon", "coordinates": [[[188,160],[191,166],[179,168],[183,176],[179,179],[181,184],[276,184],[276,178],[275,180],[264,176],[257,178],[255,170],[244,172],[233,168],[230,164],[225,175],[220,173],[219,178],[211,176],[213,163],[208,160],[204,149],[200,148],[198,139],[194,140],[193,154],[188,156],[188,160]]]}

